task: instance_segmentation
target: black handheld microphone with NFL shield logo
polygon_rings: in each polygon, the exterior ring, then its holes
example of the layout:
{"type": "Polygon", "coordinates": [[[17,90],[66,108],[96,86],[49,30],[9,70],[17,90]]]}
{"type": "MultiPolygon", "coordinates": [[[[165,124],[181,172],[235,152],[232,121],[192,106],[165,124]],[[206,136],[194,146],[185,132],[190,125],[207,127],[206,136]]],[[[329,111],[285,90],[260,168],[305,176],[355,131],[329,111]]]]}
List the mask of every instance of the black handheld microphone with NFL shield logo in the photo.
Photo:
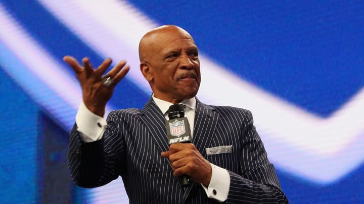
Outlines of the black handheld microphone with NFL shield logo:
{"type": "MultiPolygon", "coordinates": [[[[168,144],[191,143],[190,123],[185,117],[183,105],[171,105],[168,109],[168,117],[169,120],[166,121],[168,144]]],[[[188,175],[181,175],[179,180],[183,187],[189,187],[191,184],[191,177],[188,175]]]]}

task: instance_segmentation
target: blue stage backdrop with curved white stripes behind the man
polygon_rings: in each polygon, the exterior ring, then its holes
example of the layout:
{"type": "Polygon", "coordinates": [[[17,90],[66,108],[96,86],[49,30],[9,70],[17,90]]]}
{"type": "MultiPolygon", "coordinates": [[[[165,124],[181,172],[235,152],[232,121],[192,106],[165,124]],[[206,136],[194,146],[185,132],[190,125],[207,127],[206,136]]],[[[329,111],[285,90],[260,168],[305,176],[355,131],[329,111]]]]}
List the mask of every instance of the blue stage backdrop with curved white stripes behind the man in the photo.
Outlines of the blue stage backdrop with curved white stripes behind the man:
{"type": "Polygon", "coordinates": [[[364,203],[362,1],[0,2],[0,197],[5,203],[127,203],[121,179],[70,180],[68,132],[81,100],[66,54],[126,59],[107,110],[151,90],[138,43],[164,24],[200,50],[198,98],[252,111],[291,203],[364,203]]]}

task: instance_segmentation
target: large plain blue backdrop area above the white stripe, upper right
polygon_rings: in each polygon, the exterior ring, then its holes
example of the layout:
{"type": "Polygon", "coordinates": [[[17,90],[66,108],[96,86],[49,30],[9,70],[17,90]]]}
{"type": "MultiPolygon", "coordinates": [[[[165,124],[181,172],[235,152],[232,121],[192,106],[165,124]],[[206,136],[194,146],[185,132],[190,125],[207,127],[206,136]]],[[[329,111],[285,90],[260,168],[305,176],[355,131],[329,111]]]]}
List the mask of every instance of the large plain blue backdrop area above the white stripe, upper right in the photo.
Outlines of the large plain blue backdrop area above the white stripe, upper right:
{"type": "Polygon", "coordinates": [[[321,116],[364,86],[361,1],[131,3],[188,30],[203,53],[247,81],[321,116]]]}

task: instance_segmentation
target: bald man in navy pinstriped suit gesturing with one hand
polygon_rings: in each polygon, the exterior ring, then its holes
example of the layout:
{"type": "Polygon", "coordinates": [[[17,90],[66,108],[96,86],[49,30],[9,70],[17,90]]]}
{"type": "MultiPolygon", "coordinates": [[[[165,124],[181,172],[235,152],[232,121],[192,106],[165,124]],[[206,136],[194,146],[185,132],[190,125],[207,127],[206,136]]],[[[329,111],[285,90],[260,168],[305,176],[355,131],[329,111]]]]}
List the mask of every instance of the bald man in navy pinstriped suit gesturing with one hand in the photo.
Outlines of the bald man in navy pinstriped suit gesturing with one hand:
{"type": "Polygon", "coordinates": [[[65,56],[81,84],[83,103],[71,131],[69,170],[83,187],[122,176],[130,203],[287,203],[248,110],[210,106],[195,98],[200,82],[198,48],[172,25],[148,32],[139,45],[140,69],[153,95],[142,110],[112,111],[103,120],[114,87],[127,74],[125,61],[104,77],[106,59],[93,69],[65,56]],[[183,104],[192,143],[168,145],[168,107],[183,104]],[[188,175],[193,184],[178,181],[188,175]]]}

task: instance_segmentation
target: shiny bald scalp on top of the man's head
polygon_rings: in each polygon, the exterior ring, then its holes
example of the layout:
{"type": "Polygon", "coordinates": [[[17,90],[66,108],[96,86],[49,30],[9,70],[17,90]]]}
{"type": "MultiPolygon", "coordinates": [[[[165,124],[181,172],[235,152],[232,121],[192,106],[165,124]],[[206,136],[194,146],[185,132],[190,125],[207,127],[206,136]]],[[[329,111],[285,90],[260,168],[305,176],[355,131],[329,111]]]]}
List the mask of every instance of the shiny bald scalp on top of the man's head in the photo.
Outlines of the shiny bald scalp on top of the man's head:
{"type": "Polygon", "coordinates": [[[168,40],[169,35],[176,33],[193,40],[192,36],[186,30],[174,25],[160,26],[146,33],[139,43],[140,61],[148,60],[151,54],[163,49],[161,42],[168,40]]]}

